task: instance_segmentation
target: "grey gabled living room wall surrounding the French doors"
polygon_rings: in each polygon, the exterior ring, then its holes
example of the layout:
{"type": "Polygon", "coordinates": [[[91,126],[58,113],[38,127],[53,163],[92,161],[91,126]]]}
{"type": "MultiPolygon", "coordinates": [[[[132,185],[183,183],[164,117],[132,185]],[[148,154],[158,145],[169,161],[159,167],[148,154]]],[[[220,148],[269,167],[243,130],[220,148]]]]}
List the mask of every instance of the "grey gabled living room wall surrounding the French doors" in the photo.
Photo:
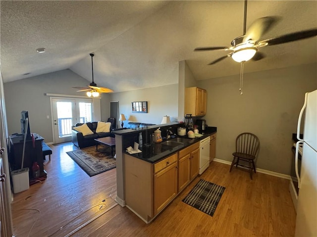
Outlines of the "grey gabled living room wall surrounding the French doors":
{"type": "MultiPolygon", "coordinates": [[[[45,93],[85,95],[84,92],[76,92],[72,86],[86,87],[88,84],[88,80],[70,70],[4,83],[8,134],[21,133],[20,113],[26,110],[29,112],[31,132],[40,134],[46,142],[53,142],[51,103],[45,93]]],[[[107,97],[103,95],[101,106],[104,111],[109,111],[106,101],[107,97]]],[[[102,119],[108,118],[107,115],[102,110],[102,119]]]]}

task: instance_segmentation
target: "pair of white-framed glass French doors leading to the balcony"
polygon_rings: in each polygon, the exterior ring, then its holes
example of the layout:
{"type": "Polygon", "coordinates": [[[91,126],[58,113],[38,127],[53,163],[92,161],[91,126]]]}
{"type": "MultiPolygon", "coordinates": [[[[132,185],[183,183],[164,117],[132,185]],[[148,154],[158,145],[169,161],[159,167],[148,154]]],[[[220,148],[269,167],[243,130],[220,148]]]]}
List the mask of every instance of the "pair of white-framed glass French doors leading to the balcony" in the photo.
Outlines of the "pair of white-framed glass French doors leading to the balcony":
{"type": "Polygon", "coordinates": [[[52,98],[53,142],[71,141],[73,125],[92,121],[92,105],[92,99],[52,98]]]}

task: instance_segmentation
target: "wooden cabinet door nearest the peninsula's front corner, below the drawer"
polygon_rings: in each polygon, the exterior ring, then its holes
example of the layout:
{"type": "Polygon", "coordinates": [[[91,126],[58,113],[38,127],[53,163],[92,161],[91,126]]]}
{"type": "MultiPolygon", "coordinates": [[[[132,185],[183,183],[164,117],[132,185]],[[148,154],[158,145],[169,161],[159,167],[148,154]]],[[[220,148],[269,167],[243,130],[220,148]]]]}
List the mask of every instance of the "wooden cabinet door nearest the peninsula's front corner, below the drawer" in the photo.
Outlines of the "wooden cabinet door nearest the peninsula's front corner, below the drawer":
{"type": "Polygon", "coordinates": [[[154,175],[154,214],[162,210],[177,194],[177,162],[154,175]]]}

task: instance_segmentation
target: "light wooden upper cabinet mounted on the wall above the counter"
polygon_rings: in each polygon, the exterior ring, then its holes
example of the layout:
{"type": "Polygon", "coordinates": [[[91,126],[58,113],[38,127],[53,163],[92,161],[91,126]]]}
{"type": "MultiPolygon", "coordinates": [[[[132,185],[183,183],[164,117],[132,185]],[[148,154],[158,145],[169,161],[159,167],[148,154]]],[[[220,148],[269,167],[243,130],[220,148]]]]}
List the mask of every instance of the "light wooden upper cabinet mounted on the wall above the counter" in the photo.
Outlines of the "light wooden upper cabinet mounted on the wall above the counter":
{"type": "Polygon", "coordinates": [[[207,113],[207,91],[199,87],[185,88],[185,114],[204,116],[207,113]]]}

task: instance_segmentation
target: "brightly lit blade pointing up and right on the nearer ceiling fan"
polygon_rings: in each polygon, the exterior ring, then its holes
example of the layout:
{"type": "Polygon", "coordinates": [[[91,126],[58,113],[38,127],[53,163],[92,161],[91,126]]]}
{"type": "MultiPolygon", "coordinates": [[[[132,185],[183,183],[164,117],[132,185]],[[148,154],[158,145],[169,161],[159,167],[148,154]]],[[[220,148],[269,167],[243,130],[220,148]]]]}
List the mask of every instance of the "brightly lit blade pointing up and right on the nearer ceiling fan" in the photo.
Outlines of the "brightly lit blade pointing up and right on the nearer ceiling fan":
{"type": "Polygon", "coordinates": [[[277,17],[266,16],[255,20],[247,30],[243,42],[260,40],[261,36],[266,33],[277,22],[277,17]]]}

